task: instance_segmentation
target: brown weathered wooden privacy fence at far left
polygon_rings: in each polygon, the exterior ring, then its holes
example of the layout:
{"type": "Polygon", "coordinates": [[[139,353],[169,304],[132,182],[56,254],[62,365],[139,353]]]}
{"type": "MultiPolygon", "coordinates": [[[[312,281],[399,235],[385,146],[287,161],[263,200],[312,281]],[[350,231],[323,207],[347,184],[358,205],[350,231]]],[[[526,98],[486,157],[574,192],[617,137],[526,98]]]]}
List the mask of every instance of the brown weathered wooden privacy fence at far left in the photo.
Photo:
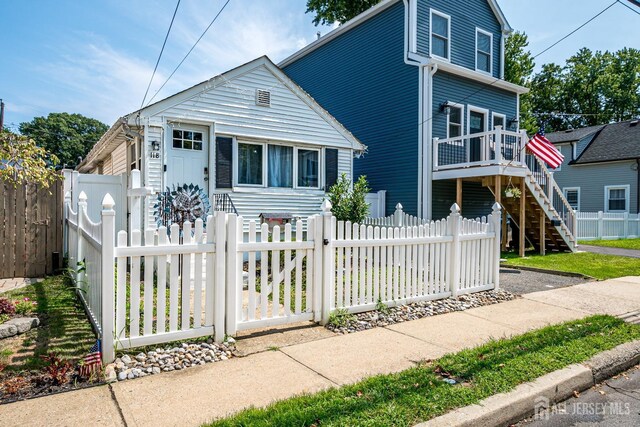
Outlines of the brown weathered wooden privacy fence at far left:
{"type": "Polygon", "coordinates": [[[0,279],[52,274],[61,252],[62,182],[49,188],[0,182],[0,279]]]}

